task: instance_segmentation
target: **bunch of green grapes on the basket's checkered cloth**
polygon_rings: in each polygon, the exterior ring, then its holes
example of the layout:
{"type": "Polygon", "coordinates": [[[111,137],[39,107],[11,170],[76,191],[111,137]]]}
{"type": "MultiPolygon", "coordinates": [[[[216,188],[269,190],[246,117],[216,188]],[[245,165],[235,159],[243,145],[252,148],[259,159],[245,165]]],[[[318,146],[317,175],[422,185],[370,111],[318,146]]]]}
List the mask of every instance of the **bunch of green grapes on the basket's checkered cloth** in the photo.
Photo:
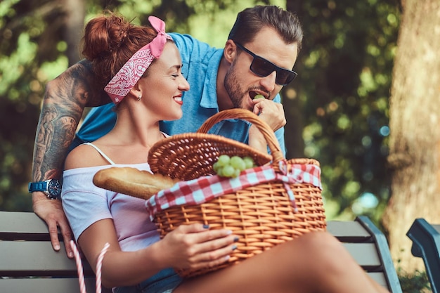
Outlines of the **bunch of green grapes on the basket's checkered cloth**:
{"type": "Polygon", "coordinates": [[[212,169],[217,175],[222,177],[238,177],[240,172],[245,169],[255,167],[254,159],[252,157],[229,157],[228,155],[220,155],[217,162],[212,165],[212,169]]]}

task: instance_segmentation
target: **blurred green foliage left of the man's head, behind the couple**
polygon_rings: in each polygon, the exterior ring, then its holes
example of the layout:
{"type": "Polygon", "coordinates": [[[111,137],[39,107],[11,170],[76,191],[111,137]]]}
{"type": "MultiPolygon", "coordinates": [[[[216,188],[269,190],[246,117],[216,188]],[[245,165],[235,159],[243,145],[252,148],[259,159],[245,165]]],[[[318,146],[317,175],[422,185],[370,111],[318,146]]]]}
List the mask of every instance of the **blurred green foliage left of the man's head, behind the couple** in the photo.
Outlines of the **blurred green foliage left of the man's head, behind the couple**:
{"type": "MultiPolygon", "coordinates": [[[[84,22],[105,8],[119,11],[137,24],[146,23],[148,15],[153,14],[167,20],[168,31],[193,34],[203,41],[213,40],[213,30],[222,31],[214,34],[218,46],[226,41],[236,13],[257,3],[253,0],[240,4],[231,0],[79,1],[86,4],[84,22]],[[225,15],[227,21],[222,19],[225,15]],[[198,30],[200,27],[212,30],[198,30]]],[[[272,3],[283,4],[283,1],[272,3]]],[[[32,210],[27,182],[31,178],[32,150],[44,86],[69,64],[65,52],[66,13],[60,0],[0,1],[1,210],[32,210]]]]}

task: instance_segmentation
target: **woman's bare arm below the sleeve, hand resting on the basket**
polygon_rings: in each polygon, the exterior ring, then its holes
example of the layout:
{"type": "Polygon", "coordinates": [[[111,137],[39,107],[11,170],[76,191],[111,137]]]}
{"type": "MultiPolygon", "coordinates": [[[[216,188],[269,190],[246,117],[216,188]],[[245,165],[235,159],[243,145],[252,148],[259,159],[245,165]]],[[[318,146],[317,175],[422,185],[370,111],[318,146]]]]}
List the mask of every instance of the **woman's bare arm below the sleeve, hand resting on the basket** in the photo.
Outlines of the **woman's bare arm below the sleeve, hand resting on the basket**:
{"type": "Polygon", "coordinates": [[[182,225],[163,240],[136,252],[122,252],[111,219],[93,223],[79,236],[79,246],[92,268],[108,242],[102,264],[105,287],[136,285],[164,268],[205,268],[228,260],[235,247],[229,230],[209,230],[202,224],[182,225]]]}

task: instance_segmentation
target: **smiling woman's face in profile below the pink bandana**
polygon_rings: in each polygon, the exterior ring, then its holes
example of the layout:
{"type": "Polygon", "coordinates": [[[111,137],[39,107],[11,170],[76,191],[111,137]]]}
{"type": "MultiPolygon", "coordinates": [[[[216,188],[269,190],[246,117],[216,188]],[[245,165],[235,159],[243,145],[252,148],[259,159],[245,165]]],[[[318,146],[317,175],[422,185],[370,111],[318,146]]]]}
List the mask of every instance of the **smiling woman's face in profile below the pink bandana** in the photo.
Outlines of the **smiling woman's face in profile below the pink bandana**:
{"type": "Polygon", "coordinates": [[[175,120],[182,117],[182,94],[190,85],[181,72],[179,49],[167,41],[160,58],[147,69],[146,77],[139,80],[142,101],[157,120],[175,120]]]}

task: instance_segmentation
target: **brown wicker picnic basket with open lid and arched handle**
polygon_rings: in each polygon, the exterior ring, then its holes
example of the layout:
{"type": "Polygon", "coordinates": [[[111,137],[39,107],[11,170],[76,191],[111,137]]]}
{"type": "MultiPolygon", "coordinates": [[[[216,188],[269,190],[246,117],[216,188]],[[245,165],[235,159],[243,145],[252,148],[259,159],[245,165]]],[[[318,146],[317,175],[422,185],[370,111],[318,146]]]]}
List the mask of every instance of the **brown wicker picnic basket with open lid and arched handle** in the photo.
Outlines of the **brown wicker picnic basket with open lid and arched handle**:
{"type": "MultiPolygon", "coordinates": [[[[253,157],[257,166],[272,167],[276,173],[288,172],[292,167],[319,167],[315,159],[286,161],[268,124],[252,112],[241,109],[219,112],[208,119],[197,133],[165,138],[150,150],[148,162],[153,173],[190,181],[215,175],[212,164],[222,154],[253,157]],[[223,136],[207,134],[214,124],[224,119],[244,119],[256,125],[266,138],[271,155],[223,136]]],[[[158,211],[153,221],[161,237],[181,224],[190,223],[205,223],[211,229],[230,229],[239,236],[238,248],[231,253],[227,263],[198,271],[177,268],[177,273],[185,278],[201,275],[244,261],[304,233],[325,230],[321,186],[290,183],[287,187],[295,195],[296,209],[287,197],[285,183],[274,180],[223,194],[202,204],[175,205],[158,211]]]]}

